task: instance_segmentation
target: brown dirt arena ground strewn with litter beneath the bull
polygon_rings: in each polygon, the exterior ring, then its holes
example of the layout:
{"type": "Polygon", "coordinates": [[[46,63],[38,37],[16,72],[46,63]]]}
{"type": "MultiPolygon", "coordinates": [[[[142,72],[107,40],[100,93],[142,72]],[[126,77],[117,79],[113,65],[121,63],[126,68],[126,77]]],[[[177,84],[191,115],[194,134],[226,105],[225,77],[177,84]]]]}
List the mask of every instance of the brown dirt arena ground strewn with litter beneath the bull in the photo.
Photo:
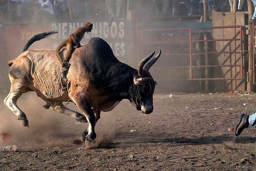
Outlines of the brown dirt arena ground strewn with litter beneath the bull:
{"type": "MultiPolygon", "coordinates": [[[[228,130],[241,113],[256,112],[254,93],[156,94],[154,112],[148,116],[123,100],[101,114],[94,149],[72,143],[80,139],[86,123],[44,109],[33,93],[24,95],[18,106],[27,114],[29,128],[19,125],[15,114],[0,104],[0,132],[12,136],[10,142],[2,138],[0,147],[18,147],[16,152],[0,151],[1,171],[256,168],[256,128],[249,127],[240,136],[228,130]]],[[[72,104],[67,107],[76,109],[72,104]]]]}

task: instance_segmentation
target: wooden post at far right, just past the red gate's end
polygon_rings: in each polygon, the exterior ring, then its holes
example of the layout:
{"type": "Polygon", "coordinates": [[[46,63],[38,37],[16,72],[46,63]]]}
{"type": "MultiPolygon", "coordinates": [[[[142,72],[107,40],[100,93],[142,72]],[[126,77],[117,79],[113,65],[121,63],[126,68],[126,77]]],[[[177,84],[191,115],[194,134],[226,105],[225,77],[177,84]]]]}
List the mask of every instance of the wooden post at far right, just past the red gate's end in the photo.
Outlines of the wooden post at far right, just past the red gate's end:
{"type": "Polygon", "coordinates": [[[250,32],[250,34],[248,35],[248,78],[249,78],[249,81],[247,83],[247,91],[248,92],[253,92],[254,91],[254,82],[253,82],[253,74],[254,74],[254,71],[253,71],[253,53],[252,53],[252,50],[254,47],[252,47],[252,41],[253,41],[253,36],[252,35],[252,23],[250,23],[250,21],[252,20],[252,15],[253,15],[253,3],[251,0],[247,0],[247,4],[248,4],[248,13],[249,13],[249,18],[248,18],[248,21],[249,21],[249,24],[248,24],[248,30],[250,32]]]}

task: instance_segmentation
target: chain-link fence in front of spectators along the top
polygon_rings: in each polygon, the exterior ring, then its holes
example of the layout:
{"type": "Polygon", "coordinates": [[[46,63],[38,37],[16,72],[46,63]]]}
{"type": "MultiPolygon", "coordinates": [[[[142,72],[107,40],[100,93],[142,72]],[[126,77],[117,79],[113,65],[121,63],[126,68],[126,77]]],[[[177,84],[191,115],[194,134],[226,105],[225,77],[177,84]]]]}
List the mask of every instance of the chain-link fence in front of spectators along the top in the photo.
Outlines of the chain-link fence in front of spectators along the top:
{"type": "MultiPolygon", "coordinates": [[[[73,14],[75,15],[73,17],[75,18],[104,18],[107,16],[104,0],[94,0],[92,3],[87,3],[86,0],[69,0],[67,2],[72,4],[72,9],[77,9],[77,13],[73,14]],[[87,13],[85,14],[86,11],[87,13]]],[[[162,14],[164,14],[163,16],[196,16],[203,15],[204,12],[203,0],[123,0],[122,2],[121,13],[123,18],[126,17],[125,13],[127,12],[127,7],[133,8],[129,10],[137,11],[137,14],[142,17],[145,14],[149,16],[155,16],[156,14],[160,16],[162,16],[162,14]]],[[[243,4],[240,5],[238,10],[247,11],[247,0],[241,0],[240,2],[243,4]]],[[[59,14],[60,11],[57,11],[57,8],[55,8],[56,4],[53,4],[54,10],[56,10],[55,14],[57,19],[58,16],[60,16],[59,19],[69,18],[69,15],[64,15],[69,13],[67,4],[65,11],[62,11],[64,14],[59,14]]],[[[230,12],[229,0],[207,0],[207,5],[209,15],[212,10],[230,12]]],[[[112,6],[113,10],[116,10],[114,1],[112,6]]],[[[0,20],[7,14],[10,15],[8,18],[12,20],[31,19],[33,16],[33,10],[35,10],[34,8],[35,5],[33,5],[31,0],[27,0],[25,2],[21,0],[4,0],[0,2],[0,20]]]]}

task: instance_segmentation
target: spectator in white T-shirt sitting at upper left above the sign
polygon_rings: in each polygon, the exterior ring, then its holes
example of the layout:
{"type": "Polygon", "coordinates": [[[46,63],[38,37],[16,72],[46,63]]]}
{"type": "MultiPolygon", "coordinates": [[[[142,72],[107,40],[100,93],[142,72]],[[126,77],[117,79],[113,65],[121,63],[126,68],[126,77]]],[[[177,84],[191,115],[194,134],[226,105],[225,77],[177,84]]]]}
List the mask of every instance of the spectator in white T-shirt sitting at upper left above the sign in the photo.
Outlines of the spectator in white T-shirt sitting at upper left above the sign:
{"type": "Polygon", "coordinates": [[[38,23],[46,23],[54,18],[54,10],[50,0],[33,0],[34,4],[40,4],[40,8],[35,11],[35,21],[38,23]]]}

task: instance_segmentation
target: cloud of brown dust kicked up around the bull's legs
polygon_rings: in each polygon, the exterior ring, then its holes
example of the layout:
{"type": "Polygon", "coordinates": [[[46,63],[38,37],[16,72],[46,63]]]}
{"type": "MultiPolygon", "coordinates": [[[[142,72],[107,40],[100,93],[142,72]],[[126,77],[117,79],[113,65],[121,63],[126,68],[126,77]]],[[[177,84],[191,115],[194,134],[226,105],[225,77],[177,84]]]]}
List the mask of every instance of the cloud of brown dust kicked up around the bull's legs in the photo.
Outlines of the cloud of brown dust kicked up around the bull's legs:
{"type": "MultiPolygon", "coordinates": [[[[23,94],[17,101],[19,108],[29,120],[29,128],[19,124],[17,116],[4,104],[0,104],[0,147],[7,145],[46,145],[50,147],[70,145],[72,139],[81,139],[87,123],[79,123],[75,118],[60,114],[56,111],[44,109],[44,101],[36,94],[23,94]],[[23,97],[25,96],[25,98],[23,97]],[[4,137],[10,135],[10,137],[4,137]]],[[[70,106],[67,106],[70,108],[70,106]]],[[[75,106],[76,107],[76,106],[75,106]]],[[[72,109],[72,107],[71,107],[72,109]]],[[[72,110],[78,110],[74,108],[72,110]]],[[[102,112],[101,119],[96,124],[96,143],[90,148],[111,147],[116,128],[110,112],[102,112]]],[[[82,145],[85,145],[82,142],[82,145]]]]}

